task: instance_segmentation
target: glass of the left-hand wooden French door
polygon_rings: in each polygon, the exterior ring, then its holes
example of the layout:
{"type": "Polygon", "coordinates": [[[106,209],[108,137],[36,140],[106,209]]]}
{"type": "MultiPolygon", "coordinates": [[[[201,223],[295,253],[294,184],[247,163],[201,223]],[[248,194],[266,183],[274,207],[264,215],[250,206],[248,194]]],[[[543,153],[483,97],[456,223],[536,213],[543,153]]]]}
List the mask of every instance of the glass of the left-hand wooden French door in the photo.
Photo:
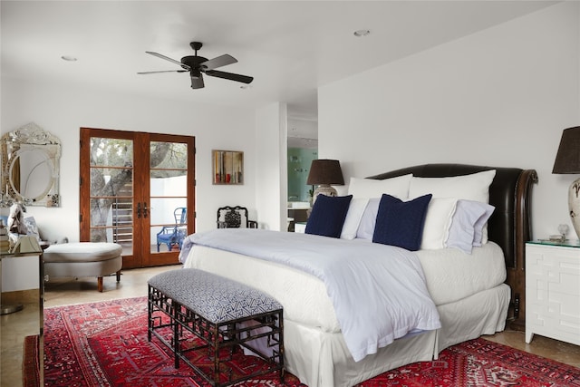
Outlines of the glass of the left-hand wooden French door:
{"type": "Polygon", "coordinates": [[[91,138],[91,241],[133,251],[133,142],[91,138]]]}

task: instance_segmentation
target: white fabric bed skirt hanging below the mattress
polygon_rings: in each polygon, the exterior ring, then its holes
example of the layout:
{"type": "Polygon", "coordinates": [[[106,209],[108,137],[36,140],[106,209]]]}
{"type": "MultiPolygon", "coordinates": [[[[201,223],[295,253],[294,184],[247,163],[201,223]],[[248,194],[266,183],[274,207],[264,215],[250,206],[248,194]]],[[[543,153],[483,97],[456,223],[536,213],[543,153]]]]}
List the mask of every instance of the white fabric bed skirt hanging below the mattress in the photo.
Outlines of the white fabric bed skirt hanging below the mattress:
{"type": "Polygon", "coordinates": [[[285,320],[286,369],[309,387],[353,386],[382,372],[415,362],[429,362],[443,349],[495,334],[506,324],[509,286],[438,307],[443,328],[402,338],[355,363],[342,334],[285,320]]]}

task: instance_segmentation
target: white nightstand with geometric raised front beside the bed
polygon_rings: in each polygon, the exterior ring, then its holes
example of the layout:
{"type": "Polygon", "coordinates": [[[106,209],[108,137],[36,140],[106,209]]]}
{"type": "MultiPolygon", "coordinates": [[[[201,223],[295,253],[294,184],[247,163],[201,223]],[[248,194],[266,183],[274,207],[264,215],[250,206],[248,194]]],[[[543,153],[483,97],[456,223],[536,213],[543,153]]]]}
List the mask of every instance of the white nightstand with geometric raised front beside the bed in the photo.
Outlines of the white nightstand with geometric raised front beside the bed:
{"type": "Polygon", "coordinates": [[[580,244],[526,244],[526,343],[534,334],[580,345],[580,244]]]}

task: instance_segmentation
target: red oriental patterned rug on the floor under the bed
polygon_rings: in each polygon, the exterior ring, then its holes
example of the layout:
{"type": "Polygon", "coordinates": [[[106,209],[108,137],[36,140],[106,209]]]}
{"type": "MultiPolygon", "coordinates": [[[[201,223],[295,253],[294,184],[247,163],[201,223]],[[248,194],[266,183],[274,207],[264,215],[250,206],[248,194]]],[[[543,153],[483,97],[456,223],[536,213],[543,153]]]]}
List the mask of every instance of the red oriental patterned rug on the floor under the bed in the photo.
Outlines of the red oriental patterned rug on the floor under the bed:
{"type": "MultiPolygon", "coordinates": [[[[25,341],[25,386],[35,382],[31,363],[37,360],[36,345],[34,336],[25,341]]],[[[201,356],[198,361],[203,362],[201,356]]],[[[244,372],[259,362],[236,353],[231,365],[244,372]]],[[[172,354],[157,339],[147,341],[145,297],[45,309],[44,382],[63,387],[208,385],[183,363],[176,370],[172,354]]],[[[268,374],[243,385],[273,387],[280,382],[277,374],[268,374]]],[[[285,385],[304,386],[288,373],[285,385]]],[[[375,386],[580,386],[580,369],[476,339],[444,350],[437,361],[406,365],[360,384],[375,386]]]]}

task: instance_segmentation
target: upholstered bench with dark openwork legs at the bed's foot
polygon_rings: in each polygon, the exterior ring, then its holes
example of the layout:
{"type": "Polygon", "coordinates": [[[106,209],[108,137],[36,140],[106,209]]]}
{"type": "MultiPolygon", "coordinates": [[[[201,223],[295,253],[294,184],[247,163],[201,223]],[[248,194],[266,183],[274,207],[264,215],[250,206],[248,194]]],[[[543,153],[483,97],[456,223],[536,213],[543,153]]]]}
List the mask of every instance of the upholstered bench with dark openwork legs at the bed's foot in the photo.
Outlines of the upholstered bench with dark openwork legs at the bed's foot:
{"type": "Polygon", "coordinates": [[[211,385],[220,387],[270,372],[280,372],[284,382],[282,305],[274,298],[198,269],[169,270],[151,277],[148,284],[148,339],[153,334],[169,347],[175,368],[181,359],[211,385]],[[256,340],[266,342],[268,350],[251,343],[256,340]],[[238,344],[264,359],[267,366],[248,374],[234,372],[227,360],[238,344]],[[203,349],[208,350],[210,366],[188,357],[203,349]]]}

